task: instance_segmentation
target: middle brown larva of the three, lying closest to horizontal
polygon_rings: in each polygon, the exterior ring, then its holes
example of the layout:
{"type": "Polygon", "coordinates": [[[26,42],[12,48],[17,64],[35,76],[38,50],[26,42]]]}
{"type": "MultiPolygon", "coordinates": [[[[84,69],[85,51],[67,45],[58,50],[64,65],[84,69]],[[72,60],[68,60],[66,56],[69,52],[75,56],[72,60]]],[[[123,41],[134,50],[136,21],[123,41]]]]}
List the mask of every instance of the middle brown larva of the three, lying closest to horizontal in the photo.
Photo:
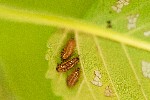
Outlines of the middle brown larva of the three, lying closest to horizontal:
{"type": "Polygon", "coordinates": [[[79,62],[79,58],[73,58],[71,60],[68,60],[66,62],[62,62],[59,64],[56,68],[58,72],[66,72],[67,70],[71,69],[74,65],[76,65],[79,62]]]}

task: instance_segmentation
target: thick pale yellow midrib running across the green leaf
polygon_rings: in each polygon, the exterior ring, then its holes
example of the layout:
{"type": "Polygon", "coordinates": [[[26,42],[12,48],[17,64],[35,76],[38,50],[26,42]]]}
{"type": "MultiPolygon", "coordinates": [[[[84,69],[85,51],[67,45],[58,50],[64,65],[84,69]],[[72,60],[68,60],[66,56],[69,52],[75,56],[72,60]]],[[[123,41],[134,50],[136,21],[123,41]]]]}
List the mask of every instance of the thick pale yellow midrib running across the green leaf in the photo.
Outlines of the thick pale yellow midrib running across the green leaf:
{"type": "Polygon", "coordinates": [[[121,42],[136,48],[150,51],[150,44],[148,42],[140,41],[123,34],[113,32],[112,30],[101,28],[100,26],[75,20],[71,18],[64,18],[56,15],[47,15],[41,13],[34,13],[29,11],[18,10],[0,5],[0,18],[34,23],[39,25],[50,25],[60,28],[67,28],[70,30],[81,31],[88,34],[100,36],[102,38],[110,39],[116,42],[121,42]]]}

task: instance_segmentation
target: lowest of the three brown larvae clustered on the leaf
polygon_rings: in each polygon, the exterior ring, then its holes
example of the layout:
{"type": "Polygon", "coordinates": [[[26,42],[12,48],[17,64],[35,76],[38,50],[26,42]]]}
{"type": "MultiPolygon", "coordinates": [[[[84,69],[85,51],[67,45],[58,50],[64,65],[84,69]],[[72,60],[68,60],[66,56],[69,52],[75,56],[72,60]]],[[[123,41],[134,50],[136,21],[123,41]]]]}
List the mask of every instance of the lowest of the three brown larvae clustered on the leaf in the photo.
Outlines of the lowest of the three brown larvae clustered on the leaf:
{"type": "Polygon", "coordinates": [[[67,85],[72,87],[78,81],[80,75],[80,68],[75,69],[67,78],[67,85]]]}

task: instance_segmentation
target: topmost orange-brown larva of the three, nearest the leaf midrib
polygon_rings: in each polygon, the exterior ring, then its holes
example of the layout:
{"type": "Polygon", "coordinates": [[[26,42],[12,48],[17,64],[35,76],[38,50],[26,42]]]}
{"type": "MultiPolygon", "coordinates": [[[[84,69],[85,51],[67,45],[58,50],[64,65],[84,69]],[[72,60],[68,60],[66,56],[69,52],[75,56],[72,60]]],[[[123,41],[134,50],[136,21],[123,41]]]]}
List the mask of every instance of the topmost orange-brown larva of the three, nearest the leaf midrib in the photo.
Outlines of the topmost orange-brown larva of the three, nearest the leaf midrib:
{"type": "Polygon", "coordinates": [[[75,45],[76,45],[75,40],[71,39],[68,41],[66,47],[61,52],[62,59],[67,59],[73,53],[75,45]]]}

